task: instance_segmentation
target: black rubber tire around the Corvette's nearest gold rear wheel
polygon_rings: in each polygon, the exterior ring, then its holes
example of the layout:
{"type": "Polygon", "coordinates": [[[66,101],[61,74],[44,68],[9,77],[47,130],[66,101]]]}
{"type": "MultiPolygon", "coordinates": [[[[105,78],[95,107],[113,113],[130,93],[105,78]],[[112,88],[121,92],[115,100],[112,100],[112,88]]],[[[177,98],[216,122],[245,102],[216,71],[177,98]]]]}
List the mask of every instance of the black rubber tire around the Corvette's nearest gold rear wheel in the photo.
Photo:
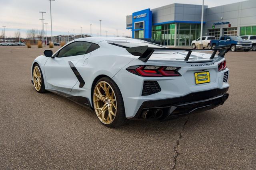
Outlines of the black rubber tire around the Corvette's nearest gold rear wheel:
{"type": "MultiPolygon", "coordinates": [[[[102,123],[103,125],[105,125],[107,127],[118,127],[118,126],[124,125],[129,120],[125,117],[124,100],[123,100],[120,89],[118,88],[117,84],[109,77],[100,78],[100,80],[98,80],[96,82],[93,89],[95,89],[96,85],[101,81],[105,81],[108,84],[110,84],[110,86],[114,90],[114,93],[116,95],[116,100],[117,100],[117,102],[116,102],[117,110],[116,110],[116,116],[115,116],[114,120],[112,121],[112,123],[105,124],[102,121],[100,121],[100,119],[99,119],[100,123],[102,123]]],[[[92,101],[93,101],[93,99],[92,99],[92,101]]],[[[98,118],[98,116],[97,116],[97,118],[98,118]]]]}

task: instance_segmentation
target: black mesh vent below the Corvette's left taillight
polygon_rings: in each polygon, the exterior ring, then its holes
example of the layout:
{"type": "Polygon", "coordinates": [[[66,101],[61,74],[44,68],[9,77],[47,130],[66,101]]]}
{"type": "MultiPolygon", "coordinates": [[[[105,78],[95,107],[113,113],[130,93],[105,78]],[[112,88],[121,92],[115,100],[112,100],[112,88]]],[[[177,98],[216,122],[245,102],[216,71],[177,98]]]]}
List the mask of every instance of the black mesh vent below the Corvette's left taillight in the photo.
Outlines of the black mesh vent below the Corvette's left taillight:
{"type": "Polygon", "coordinates": [[[150,94],[158,93],[161,88],[157,81],[144,81],[142,96],[148,96],[150,94]]]}

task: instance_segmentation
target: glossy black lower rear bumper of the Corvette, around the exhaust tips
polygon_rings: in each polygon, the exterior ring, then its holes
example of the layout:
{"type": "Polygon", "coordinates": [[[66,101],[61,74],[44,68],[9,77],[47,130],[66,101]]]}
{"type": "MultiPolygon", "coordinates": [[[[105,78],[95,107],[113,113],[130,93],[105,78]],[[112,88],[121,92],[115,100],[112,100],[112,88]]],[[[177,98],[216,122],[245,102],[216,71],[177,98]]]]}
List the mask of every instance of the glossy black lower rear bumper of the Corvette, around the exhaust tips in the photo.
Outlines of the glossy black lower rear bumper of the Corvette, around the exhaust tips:
{"type": "Polygon", "coordinates": [[[178,98],[170,98],[165,100],[151,100],[143,102],[138,112],[132,119],[144,119],[143,113],[147,110],[151,110],[153,113],[157,109],[161,109],[163,114],[161,117],[150,119],[166,120],[190,113],[196,113],[213,109],[223,104],[228,99],[226,93],[228,88],[213,89],[202,92],[190,93],[186,96],[178,98]]]}

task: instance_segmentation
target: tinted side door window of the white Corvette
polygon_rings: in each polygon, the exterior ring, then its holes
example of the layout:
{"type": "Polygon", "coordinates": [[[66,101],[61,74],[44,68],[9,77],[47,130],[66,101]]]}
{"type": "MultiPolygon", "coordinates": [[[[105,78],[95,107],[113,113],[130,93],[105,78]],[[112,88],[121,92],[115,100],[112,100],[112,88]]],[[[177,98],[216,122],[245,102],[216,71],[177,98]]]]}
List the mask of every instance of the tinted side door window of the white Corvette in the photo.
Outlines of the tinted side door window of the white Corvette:
{"type": "Polygon", "coordinates": [[[86,54],[86,51],[89,49],[91,45],[92,43],[88,43],[85,41],[77,41],[71,43],[60,50],[60,52],[58,53],[58,57],[70,57],[75,55],[86,54]]]}

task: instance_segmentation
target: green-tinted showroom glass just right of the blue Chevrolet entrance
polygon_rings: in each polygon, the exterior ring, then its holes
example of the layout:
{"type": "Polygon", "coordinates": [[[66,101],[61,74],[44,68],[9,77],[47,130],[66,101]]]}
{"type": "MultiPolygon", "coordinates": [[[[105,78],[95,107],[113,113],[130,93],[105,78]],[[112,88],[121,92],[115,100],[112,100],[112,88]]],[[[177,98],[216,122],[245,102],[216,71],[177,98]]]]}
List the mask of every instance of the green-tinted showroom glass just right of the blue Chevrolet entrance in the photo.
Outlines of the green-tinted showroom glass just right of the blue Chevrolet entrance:
{"type": "Polygon", "coordinates": [[[175,23],[152,27],[152,38],[161,45],[174,45],[175,23]]]}

